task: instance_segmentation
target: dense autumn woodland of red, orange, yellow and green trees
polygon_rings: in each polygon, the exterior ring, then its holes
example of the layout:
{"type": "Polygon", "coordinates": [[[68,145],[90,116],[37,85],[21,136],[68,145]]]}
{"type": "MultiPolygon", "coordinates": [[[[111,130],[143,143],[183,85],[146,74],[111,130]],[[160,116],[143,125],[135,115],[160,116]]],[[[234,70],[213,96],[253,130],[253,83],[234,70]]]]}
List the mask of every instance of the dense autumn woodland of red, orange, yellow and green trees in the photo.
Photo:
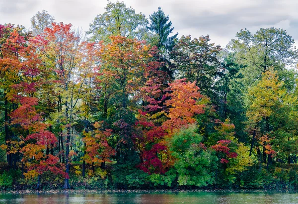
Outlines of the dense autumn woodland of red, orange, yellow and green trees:
{"type": "Polygon", "coordinates": [[[47,11],[31,25],[0,24],[1,189],[298,187],[285,30],[222,47],[118,1],[86,33],[47,11]]]}

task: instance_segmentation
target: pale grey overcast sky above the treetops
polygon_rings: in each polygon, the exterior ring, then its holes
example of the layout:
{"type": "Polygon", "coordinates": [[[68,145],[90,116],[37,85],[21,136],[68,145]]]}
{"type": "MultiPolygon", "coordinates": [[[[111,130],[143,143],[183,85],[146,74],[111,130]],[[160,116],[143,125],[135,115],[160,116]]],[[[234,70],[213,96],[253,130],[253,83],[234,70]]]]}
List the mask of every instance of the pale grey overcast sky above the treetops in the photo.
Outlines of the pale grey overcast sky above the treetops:
{"type": "MultiPolygon", "coordinates": [[[[179,36],[191,34],[194,38],[209,34],[211,41],[225,46],[241,28],[254,32],[274,26],[286,29],[298,44],[298,0],[123,1],[146,17],[160,6],[179,36]]],[[[30,28],[30,18],[44,9],[56,22],[72,23],[87,31],[89,23],[104,12],[106,4],[107,0],[0,0],[0,24],[30,28]]]]}

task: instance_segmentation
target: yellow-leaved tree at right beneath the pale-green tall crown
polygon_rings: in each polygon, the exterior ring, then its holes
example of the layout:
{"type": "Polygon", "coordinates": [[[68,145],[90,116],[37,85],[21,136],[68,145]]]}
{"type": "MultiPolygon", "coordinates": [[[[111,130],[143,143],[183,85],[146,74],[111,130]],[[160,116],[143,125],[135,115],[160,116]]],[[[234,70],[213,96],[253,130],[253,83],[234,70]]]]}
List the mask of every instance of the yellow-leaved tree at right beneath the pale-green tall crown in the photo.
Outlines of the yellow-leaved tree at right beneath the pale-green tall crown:
{"type": "MultiPolygon", "coordinates": [[[[266,155],[268,155],[268,163],[272,160],[276,151],[273,150],[274,138],[284,137],[285,134],[278,134],[278,129],[286,125],[289,121],[288,108],[285,103],[287,91],[283,87],[283,83],[279,81],[277,72],[273,68],[266,71],[261,80],[248,91],[248,103],[246,116],[248,117],[248,125],[253,129],[253,137],[251,142],[251,150],[253,148],[256,131],[259,131],[259,143],[263,148],[263,161],[266,163],[266,155]]],[[[259,150],[258,150],[259,151],[259,150]]],[[[259,153],[259,158],[261,157],[259,153]]]]}

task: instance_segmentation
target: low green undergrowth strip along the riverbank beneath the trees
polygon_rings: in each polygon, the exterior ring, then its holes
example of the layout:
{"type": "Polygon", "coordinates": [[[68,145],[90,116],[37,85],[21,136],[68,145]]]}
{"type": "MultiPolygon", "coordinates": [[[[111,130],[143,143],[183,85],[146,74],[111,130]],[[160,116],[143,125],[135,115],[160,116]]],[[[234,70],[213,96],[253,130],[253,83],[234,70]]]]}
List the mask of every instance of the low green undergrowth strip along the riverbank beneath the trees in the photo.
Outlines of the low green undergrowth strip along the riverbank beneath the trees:
{"type": "MultiPolygon", "coordinates": [[[[75,163],[76,165],[78,163],[75,163]]],[[[107,164],[107,171],[111,170],[111,166],[115,164],[107,164]]],[[[91,167],[90,167],[91,168],[91,167]]],[[[37,179],[26,179],[22,176],[19,170],[10,170],[8,174],[4,174],[6,178],[0,178],[1,184],[5,184],[5,181],[9,181],[6,186],[2,186],[1,192],[21,192],[21,193],[36,193],[36,192],[196,192],[196,191],[206,191],[206,192],[266,192],[266,191],[297,191],[298,190],[298,175],[295,174],[298,169],[298,165],[283,165],[280,167],[271,167],[269,172],[266,170],[264,165],[261,171],[256,171],[263,173],[263,175],[256,174],[256,172],[250,173],[252,176],[257,176],[255,178],[245,178],[242,181],[236,179],[232,184],[226,181],[218,181],[216,185],[209,185],[203,187],[196,186],[179,186],[174,184],[173,186],[166,185],[154,185],[150,181],[150,176],[147,175],[146,178],[136,176],[134,182],[126,180],[126,183],[114,183],[113,175],[108,173],[105,178],[99,175],[86,176],[85,178],[80,175],[76,175],[74,165],[71,168],[71,186],[72,188],[68,190],[63,189],[64,179],[63,177],[57,178],[51,174],[45,174],[41,177],[41,180],[37,179]],[[288,171],[287,171],[288,169],[288,171]],[[276,171],[278,170],[278,171],[276,171]],[[291,170],[291,172],[290,172],[291,170]],[[12,173],[13,172],[13,173],[12,173]],[[278,174],[277,174],[278,173],[278,174]],[[294,173],[294,174],[293,174],[294,173]],[[8,180],[7,180],[8,179],[8,180]],[[11,180],[10,180],[11,179],[11,180]],[[244,183],[251,182],[251,183],[244,183]],[[257,185],[253,182],[257,181],[257,185]],[[36,186],[39,184],[39,189],[36,186]],[[242,186],[241,186],[242,184],[242,186]],[[249,186],[251,185],[251,186],[249,186]],[[253,186],[254,185],[254,186],[253,186]]],[[[239,176],[240,177],[240,176],[239,176]]],[[[243,178],[243,177],[242,177],[243,178]]]]}

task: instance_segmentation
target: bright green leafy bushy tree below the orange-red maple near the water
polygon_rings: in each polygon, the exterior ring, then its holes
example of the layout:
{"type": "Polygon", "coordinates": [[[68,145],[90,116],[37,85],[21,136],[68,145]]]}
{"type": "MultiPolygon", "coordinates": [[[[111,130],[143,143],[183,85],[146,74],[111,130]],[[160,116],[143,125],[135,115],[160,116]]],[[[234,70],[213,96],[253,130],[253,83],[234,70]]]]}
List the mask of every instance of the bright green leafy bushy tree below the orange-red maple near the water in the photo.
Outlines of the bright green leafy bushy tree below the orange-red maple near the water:
{"type": "Polygon", "coordinates": [[[207,186],[214,181],[216,158],[201,143],[194,125],[181,129],[169,140],[169,150],[176,159],[174,168],[179,186],[207,186]]]}

